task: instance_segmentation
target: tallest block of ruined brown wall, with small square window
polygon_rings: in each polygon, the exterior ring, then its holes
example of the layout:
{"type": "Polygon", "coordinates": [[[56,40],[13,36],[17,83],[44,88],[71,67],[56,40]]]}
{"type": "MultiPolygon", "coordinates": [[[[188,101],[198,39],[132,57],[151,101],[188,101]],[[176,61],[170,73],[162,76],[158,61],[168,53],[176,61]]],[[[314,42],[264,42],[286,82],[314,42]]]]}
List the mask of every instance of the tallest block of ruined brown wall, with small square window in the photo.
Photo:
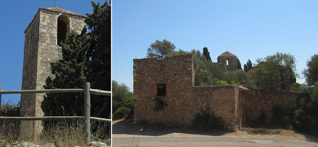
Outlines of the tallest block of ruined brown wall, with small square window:
{"type": "Polygon", "coordinates": [[[185,115],[185,99],[192,97],[192,55],[134,59],[134,120],[148,123],[177,124],[185,115]],[[160,97],[167,107],[154,111],[157,84],[166,84],[166,96],[160,97]]]}

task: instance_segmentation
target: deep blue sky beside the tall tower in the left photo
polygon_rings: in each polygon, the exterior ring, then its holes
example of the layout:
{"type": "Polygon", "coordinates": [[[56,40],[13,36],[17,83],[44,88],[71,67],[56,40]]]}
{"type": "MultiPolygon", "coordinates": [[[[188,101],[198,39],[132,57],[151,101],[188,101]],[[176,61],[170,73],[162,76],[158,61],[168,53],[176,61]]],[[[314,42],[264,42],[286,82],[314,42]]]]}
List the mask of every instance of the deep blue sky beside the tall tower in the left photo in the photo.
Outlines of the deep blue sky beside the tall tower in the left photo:
{"type": "MultiPolygon", "coordinates": [[[[93,0],[103,4],[105,0],[93,0]]],[[[21,90],[24,30],[40,7],[54,7],[55,0],[0,0],[0,85],[2,90],[21,90]]],[[[56,0],[56,6],[85,15],[91,0],[56,0]]],[[[18,103],[20,95],[2,95],[4,102],[18,103]]]]}

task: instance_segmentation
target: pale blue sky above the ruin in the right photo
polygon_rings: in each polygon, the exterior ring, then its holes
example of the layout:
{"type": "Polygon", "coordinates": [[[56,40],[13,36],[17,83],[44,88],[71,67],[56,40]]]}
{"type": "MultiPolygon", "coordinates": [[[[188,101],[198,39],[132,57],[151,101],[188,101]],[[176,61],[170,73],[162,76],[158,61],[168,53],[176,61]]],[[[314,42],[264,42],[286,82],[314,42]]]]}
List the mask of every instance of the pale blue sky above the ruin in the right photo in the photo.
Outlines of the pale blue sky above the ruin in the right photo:
{"type": "Polygon", "coordinates": [[[213,62],[230,51],[242,68],[247,59],[290,53],[301,74],[318,53],[317,7],[317,0],[113,0],[112,79],[133,91],[133,59],[163,39],[176,49],[207,47],[213,62]]]}

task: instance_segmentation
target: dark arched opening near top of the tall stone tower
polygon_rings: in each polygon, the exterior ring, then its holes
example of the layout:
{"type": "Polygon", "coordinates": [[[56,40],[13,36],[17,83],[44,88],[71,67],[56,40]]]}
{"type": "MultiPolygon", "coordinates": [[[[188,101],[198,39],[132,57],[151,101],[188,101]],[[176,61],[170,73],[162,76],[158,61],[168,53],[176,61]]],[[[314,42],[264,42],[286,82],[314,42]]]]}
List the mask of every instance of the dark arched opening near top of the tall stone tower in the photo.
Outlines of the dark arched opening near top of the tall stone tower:
{"type": "Polygon", "coordinates": [[[65,15],[58,17],[58,45],[61,46],[61,42],[64,42],[70,33],[70,19],[65,15]]]}

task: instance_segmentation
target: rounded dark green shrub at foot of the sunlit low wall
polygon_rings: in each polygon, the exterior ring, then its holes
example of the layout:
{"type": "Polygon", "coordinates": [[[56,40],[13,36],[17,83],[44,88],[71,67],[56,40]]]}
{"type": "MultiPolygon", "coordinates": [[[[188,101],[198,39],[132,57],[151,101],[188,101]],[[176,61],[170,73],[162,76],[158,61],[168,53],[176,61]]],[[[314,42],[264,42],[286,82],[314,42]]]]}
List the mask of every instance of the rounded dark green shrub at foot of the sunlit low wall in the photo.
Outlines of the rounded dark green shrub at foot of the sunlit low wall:
{"type": "Polygon", "coordinates": [[[191,122],[191,127],[193,129],[199,131],[211,131],[224,128],[222,117],[216,117],[213,112],[210,114],[210,112],[205,112],[203,110],[201,110],[201,113],[195,114],[194,119],[191,122]]]}

